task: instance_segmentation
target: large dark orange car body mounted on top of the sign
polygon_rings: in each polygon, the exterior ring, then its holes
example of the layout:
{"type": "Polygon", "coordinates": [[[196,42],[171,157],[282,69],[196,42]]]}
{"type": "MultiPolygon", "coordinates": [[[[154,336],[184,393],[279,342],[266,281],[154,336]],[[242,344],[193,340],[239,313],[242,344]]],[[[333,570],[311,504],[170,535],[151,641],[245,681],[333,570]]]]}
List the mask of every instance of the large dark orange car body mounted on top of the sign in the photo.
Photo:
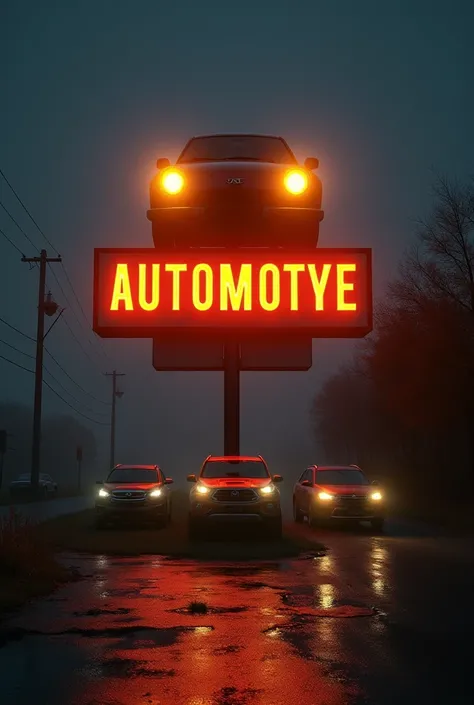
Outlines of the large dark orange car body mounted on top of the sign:
{"type": "Polygon", "coordinates": [[[298,164],[281,137],[203,135],[188,141],[175,165],[159,159],[150,184],[155,247],[315,247],[319,237],[322,184],[313,174],[318,160],[298,164]],[[177,171],[179,193],[163,188],[166,174],[177,171]],[[290,193],[285,175],[301,173],[303,193],[290,193]]]}

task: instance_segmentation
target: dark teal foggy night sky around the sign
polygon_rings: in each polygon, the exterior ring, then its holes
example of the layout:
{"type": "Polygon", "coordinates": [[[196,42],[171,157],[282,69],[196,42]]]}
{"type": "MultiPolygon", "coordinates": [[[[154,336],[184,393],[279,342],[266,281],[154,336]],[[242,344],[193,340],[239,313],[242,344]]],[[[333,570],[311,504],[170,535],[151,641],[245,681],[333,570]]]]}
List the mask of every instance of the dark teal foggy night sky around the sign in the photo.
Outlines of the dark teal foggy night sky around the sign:
{"type": "MultiPolygon", "coordinates": [[[[152,245],[145,213],[157,157],[175,158],[193,134],[281,134],[298,157],[320,159],[320,244],[372,247],[379,294],[412,237],[413,219],[429,207],[432,170],[461,178],[473,171],[469,6],[4,0],[0,167],[63,256],[90,320],[93,248],[152,245]]],[[[4,183],[0,195],[44,246],[4,183]]],[[[2,210],[0,227],[27,256],[37,254],[2,210]]],[[[37,270],[2,237],[0,256],[0,315],[34,337],[37,270]]],[[[52,266],[69,303],[50,274],[48,284],[88,355],[62,321],[47,339],[50,351],[105,400],[110,380],[102,373],[116,367],[127,374],[116,460],[160,462],[182,476],[222,452],[221,375],[156,373],[151,341],[87,336],[64,271],[52,266]]],[[[34,354],[34,343],[1,323],[0,339],[34,354]]],[[[292,474],[317,462],[311,399],[352,347],[316,342],[308,373],[244,374],[242,451],[262,453],[292,474]]],[[[33,360],[2,344],[0,354],[32,369],[33,360]]],[[[33,375],[2,360],[0,385],[2,400],[32,403],[33,375]]],[[[48,389],[44,409],[68,411],[48,389]]],[[[92,427],[106,454],[108,430],[92,427]]]]}

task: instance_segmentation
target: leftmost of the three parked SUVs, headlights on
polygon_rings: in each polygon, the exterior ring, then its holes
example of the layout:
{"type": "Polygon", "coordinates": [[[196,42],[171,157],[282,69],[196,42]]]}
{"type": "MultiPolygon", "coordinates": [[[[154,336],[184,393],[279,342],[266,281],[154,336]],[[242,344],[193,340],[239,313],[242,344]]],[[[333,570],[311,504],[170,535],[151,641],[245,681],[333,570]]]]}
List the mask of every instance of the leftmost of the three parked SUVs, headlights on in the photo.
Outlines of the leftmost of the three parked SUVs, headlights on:
{"type": "Polygon", "coordinates": [[[158,465],[116,465],[105,482],[97,483],[96,525],[134,520],[166,526],[172,482],[158,465]]]}

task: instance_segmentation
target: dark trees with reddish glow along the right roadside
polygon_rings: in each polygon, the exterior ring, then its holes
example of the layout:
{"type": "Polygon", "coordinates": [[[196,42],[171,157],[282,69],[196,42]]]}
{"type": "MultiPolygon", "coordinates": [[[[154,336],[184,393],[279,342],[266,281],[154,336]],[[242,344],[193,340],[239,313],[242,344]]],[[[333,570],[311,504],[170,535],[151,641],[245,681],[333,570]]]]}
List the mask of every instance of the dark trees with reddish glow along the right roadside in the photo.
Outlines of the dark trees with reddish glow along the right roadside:
{"type": "Polygon", "coordinates": [[[408,501],[461,508],[474,478],[474,182],[440,179],[434,191],[374,332],[312,413],[325,462],[356,462],[408,501]]]}

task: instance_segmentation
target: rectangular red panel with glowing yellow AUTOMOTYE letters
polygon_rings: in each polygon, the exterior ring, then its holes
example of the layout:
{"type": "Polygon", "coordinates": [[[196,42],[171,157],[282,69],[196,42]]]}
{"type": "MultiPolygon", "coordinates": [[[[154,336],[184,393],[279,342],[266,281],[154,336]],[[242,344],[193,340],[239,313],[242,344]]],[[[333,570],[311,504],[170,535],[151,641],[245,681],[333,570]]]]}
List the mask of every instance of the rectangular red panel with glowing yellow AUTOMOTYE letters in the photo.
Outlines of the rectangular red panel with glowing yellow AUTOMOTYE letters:
{"type": "Polygon", "coordinates": [[[361,337],[372,329],[369,249],[96,249],[94,330],[298,332],[361,337]]]}

